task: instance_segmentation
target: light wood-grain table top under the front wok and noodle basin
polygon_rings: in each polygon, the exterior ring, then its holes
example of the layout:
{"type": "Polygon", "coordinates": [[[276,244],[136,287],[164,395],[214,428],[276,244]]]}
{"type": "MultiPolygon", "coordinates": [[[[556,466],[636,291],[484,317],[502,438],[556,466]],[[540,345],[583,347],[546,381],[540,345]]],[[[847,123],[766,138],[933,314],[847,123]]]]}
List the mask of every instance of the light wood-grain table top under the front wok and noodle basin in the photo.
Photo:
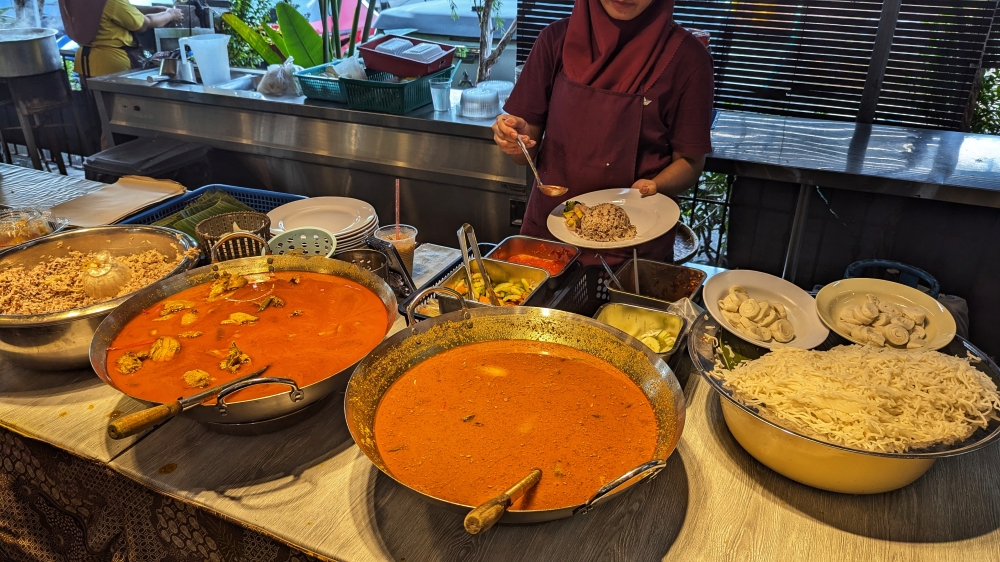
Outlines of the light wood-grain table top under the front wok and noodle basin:
{"type": "Polygon", "coordinates": [[[823,492],[750,457],[697,375],[686,395],[680,445],[656,479],[586,515],[476,537],[462,529],[461,514],[425,503],[364,457],[340,397],[300,425],[252,438],[176,420],[111,467],[335,560],[841,562],[991,559],[1000,552],[1000,448],[940,460],[916,483],[887,494],[823,492]]]}

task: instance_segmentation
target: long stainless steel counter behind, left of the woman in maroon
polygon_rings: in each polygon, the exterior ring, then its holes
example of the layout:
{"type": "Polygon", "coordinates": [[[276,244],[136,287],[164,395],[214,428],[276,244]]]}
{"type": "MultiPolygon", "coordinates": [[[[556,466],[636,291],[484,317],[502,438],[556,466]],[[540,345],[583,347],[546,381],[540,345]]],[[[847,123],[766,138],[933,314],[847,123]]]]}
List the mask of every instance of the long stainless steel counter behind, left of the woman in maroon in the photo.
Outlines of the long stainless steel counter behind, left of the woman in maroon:
{"type": "Polygon", "coordinates": [[[518,229],[512,209],[526,199],[525,173],[496,149],[491,121],[430,106],[397,116],[264,96],[249,89],[253,71],[234,71],[232,82],[209,88],[154,86],[146,81],[152,72],[89,81],[105,138],[121,133],[206,144],[226,151],[217,168],[233,183],[359,197],[375,205],[383,223],[391,222],[393,180],[401,178],[401,220],[417,226],[423,242],[454,245],[463,222],[475,224],[484,240],[518,229]]]}

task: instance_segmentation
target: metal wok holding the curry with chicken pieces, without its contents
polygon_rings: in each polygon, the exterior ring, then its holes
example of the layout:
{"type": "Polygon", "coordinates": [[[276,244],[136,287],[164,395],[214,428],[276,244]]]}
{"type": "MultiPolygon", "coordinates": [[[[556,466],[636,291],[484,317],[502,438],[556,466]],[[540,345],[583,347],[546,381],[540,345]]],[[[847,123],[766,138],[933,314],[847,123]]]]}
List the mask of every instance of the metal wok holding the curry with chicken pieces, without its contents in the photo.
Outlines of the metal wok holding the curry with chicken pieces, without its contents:
{"type": "MultiPolygon", "coordinates": [[[[300,256],[266,256],[226,261],[192,269],[191,271],[150,285],[133,294],[129,300],[115,309],[101,323],[97,329],[97,333],[94,334],[94,340],[90,346],[90,362],[94,367],[94,371],[97,372],[97,375],[104,382],[125,394],[129,394],[127,390],[117,387],[111,380],[111,377],[108,376],[107,364],[108,346],[129,320],[171,295],[177,294],[184,289],[215,280],[223,272],[244,275],[252,281],[255,275],[266,275],[274,271],[308,271],[350,279],[371,289],[382,300],[387,314],[385,333],[389,332],[389,328],[396,319],[396,295],[393,294],[392,289],[389,288],[389,285],[385,281],[370,271],[361,269],[356,265],[318,256],[311,258],[300,256]]],[[[336,349],[318,351],[336,353],[336,349]]],[[[317,361],[316,368],[322,368],[322,361],[317,361]]],[[[212,424],[237,424],[275,419],[297,412],[332,392],[343,390],[353,369],[354,365],[351,365],[342,371],[329,373],[326,378],[318,382],[302,387],[288,384],[293,381],[284,379],[287,382],[279,384],[288,386],[291,389],[289,392],[241,402],[197,406],[184,412],[183,415],[212,424]]],[[[263,381],[264,379],[252,380],[263,381]]],[[[269,380],[273,381],[273,379],[269,380]]],[[[249,382],[251,381],[247,381],[247,383],[249,382]]],[[[242,388],[246,386],[247,384],[243,383],[242,388]]],[[[137,399],[141,400],[141,398],[137,399]]],[[[148,401],[146,402],[149,403],[148,401]]]]}

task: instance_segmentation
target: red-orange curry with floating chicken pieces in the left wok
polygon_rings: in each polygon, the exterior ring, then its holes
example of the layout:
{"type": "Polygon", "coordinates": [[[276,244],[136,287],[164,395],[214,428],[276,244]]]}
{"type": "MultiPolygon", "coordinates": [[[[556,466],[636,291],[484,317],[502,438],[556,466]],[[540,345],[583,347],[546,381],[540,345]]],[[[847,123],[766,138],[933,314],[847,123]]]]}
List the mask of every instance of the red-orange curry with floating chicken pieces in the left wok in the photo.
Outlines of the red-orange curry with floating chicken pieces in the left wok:
{"type": "MultiPolygon", "coordinates": [[[[108,374],[128,394],[171,402],[269,365],[306,386],[359,361],[382,341],[382,300],[354,281],[285,271],[223,273],[142,311],[108,348],[108,374]]],[[[250,387],[232,402],[287,392],[250,387]]]]}

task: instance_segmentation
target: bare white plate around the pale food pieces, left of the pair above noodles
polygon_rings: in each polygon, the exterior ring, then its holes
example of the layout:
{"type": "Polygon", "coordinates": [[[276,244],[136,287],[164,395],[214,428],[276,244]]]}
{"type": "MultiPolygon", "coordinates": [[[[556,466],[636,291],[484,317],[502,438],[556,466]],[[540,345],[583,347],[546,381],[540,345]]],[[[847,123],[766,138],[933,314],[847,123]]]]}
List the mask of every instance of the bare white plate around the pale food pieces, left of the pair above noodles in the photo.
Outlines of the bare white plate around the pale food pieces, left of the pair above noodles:
{"type": "Polygon", "coordinates": [[[826,341],[826,338],[830,336],[830,330],[823,325],[819,315],[816,314],[816,301],[809,296],[809,293],[780,277],[768,275],[762,271],[734,269],[714,275],[705,283],[702,295],[705,299],[705,309],[720,326],[734,336],[754,345],[768,349],[781,347],[812,349],[826,341]],[[729,288],[733,285],[739,285],[746,289],[752,299],[785,305],[788,321],[792,323],[792,328],[795,330],[795,337],[792,338],[792,341],[778,343],[771,340],[765,343],[743,335],[730,325],[726,317],[722,315],[722,311],[719,310],[719,301],[729,294],[729,288]]]}

